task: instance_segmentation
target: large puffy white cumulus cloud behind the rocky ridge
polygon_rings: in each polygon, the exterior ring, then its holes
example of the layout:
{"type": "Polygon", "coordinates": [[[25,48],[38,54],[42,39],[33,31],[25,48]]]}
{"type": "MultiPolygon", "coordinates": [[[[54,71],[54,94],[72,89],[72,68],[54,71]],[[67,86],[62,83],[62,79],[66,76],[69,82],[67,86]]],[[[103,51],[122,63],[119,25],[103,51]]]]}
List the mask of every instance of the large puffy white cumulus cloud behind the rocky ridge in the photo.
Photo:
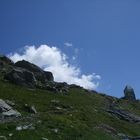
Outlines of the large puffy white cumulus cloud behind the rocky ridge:
{"type": "Polygon", "coordinates": [[[17,62],[27,60],[32,62],[45,71],[51,71],[57,82],[67,82],[68,84],[77,84],[86,89],[96,89],[99,85],[100,75],[82,74],[80,68],[69,64],[68,57],[57,47],[41,45],[39,47],[26,46],[23,52],[9,54],[9,57],[17,62]]]}

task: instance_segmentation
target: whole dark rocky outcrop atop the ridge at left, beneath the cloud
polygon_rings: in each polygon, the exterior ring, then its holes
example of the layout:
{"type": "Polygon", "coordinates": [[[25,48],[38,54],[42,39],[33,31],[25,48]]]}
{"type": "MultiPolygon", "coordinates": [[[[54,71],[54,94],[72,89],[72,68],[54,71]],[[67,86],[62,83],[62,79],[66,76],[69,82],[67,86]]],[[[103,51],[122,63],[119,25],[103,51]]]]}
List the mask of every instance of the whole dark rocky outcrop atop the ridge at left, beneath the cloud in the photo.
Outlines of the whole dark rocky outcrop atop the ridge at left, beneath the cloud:
{"type": "Polygon", "coordinates": [[[28,88],[65,93],[69,88],[67,83],[55,82],[51,72],[44,71],[35,64],[25,60],[14,63],[2,55],[0,56],[0,73],[4,75],[5,80],[28,88]]]}

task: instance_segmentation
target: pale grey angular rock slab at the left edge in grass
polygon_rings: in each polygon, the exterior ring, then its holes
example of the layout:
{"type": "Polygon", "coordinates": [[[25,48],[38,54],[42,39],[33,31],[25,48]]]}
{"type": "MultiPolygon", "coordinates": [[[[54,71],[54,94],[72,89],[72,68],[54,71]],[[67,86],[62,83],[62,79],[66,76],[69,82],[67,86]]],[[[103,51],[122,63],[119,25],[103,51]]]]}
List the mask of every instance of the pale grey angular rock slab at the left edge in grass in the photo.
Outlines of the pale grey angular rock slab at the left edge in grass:
{"type": "Polygon", "coordinates": [[[7,117],[20,117],[21,114],[9,106],[4,100],[0,99],[0,120],[7,117]]]}

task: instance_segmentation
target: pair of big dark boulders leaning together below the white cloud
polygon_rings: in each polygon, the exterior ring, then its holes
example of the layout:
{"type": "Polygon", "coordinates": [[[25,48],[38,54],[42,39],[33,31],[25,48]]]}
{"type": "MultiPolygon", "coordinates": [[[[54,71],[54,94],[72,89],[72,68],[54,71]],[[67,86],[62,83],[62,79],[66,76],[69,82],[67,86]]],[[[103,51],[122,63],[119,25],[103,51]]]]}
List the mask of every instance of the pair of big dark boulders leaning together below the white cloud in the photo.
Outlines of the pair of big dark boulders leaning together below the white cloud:
{"type": "Polygon", "coordinates": [[[43,71],[38,66],[25,60],[16,62],[6,73],[5,79],[31,88],[45,85],[47,82],[53,82],[54,80],[51,72],[43,71]]]}

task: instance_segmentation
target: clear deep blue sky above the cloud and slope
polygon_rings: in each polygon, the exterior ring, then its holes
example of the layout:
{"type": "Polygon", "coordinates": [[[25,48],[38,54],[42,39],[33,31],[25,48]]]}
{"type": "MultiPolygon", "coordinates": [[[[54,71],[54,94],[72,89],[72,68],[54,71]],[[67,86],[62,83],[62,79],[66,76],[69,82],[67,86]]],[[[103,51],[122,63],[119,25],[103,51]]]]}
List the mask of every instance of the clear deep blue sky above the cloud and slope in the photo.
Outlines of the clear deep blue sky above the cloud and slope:
{"type": "Polygon", "coordinates": [[[101,75],[98,91],[120,97],[129,84],[140,98],[139,7],[139,0],[1,0],[0,53],[56,46],[75,55],[70,63],[82,73],[101,75]]]}

